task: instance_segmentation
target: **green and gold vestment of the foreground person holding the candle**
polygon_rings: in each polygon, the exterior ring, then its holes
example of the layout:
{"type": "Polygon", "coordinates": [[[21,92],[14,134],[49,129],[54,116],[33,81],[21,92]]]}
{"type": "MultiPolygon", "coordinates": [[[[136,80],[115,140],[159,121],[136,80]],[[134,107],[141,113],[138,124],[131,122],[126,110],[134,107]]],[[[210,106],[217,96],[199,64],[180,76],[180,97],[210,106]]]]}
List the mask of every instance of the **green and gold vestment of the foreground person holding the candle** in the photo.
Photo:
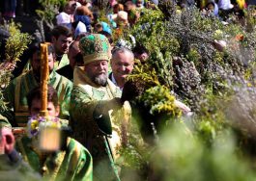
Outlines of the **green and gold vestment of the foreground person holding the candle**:
{"type": "MultiPolygon", "coordinates": [[[[34,138],[33,138],[34,139],[34,138]]],[[[93,161],[88,150],[79,142],[68,138],[65,149],[43,155],[33,144],[34,140],[23,137],[16,148],[31,168],[45,180],[90,181],[93,179],[93,161]]]]}

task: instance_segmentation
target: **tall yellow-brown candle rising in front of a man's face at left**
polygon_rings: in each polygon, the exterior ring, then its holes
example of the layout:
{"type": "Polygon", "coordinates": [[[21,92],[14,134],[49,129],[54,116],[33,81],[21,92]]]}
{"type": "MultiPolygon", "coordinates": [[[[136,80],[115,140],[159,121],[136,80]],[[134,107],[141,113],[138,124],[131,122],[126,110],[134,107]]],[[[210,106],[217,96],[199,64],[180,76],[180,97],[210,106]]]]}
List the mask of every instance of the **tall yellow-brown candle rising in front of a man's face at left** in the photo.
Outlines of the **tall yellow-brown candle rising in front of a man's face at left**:
{"type": "Polygon", "coordinates": [[[47,91],[48,91],[48,44],[41,43],[41,116],[48,116],[47,112],[47,91]]]}

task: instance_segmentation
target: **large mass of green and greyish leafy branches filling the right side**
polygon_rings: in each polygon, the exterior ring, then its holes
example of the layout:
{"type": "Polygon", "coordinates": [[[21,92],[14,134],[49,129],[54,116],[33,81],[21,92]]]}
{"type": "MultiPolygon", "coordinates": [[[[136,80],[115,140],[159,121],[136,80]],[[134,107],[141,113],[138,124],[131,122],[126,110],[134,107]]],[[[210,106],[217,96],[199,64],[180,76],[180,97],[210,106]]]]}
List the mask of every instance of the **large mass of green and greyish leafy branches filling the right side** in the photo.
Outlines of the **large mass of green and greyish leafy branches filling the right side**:
{"type": "Polygon", "coordinates": [[[139,123],[132,132],[137,139],[130,140],[129,151],[121,151],[123,163],[141,180],[253,180],[254,163],[248,162],[255,158],[256,145],[252,16],[245,16],[245,26],[237,16],[224,25],[194,8],[178,12],[170,1],[159,2],[158,9],[145,14],[128,32],[149,50],[150,58],[128,76],[128,85],[135,88],[129,92],[141,98],[130,97],[133,119],[139,123]],[[225,46],[218,49],[215,40],[225,46]],[[168,106],[165,93],[189,105],[193,116],[166,118],[171,111],[152,116],[160,106],[168,106]],[[149,104],[145,111],[143,106],[149,104]],[[148,121],[154,124],[141,126],[148,121]],[[145,135],[152,135],[154,142],[145,135]],[[145,143],[136,143],[141,137],[145,143]],[[234,168],[238,163],[242,165],[234,168]],[[230,174],[231,169],[238,170],[230,174]]]}

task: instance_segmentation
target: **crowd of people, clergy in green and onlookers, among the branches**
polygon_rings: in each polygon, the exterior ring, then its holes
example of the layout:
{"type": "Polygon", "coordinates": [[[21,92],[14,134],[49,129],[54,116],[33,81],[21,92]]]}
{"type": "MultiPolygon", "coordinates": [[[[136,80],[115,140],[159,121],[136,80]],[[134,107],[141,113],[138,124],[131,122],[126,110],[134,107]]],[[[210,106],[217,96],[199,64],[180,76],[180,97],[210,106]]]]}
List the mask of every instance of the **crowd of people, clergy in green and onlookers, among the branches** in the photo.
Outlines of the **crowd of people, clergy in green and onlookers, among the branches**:
{"type": "MultiPolygon", "coordinates": [[[[143,9],[156,8],[158,1],[109,0],[106,21],[99,21],[100,13],[94,11],[97,3],[68,1],[56,14],[56,26],[51,30],[47,45],[47,111],[49,116],[58,117],[49,120],[60,125],[58,149],[43,151],[43,129],[34,125],[34,119],[40,119],[42,101],[42,42],[29,46],[29,59],[22,60],[24,66],[18,67],[22,73],[3,90],[8,109],[0,113],[0,162],[6,168],[1,166],[0,172],[7,171],[5,177],[10,180],[17,178],[11,178],[14,174],[8,171],[21,174],[19,180],[42,176],[49,180],[122,179],[122,167],[115,161],[120,157],[120,147],[128,142],[132,111],[128,101],[121,99],[122,90],[133,66],[144,64],[150,52],[143,44],[131,47],[124,39],[113,39],[119,36],[119,29],[136,24],[143,9]],[[12,130],[19,128],[27,128],[29,134],[21,131],[14,145],[12,130]]],[[[254,1],[231,0],[177,2],[181,9],[197,6],[202,13],[213,13],[223,21],[231,13],[242,14],[246,6],[253,4],[254,1]]],[[[14,17],[13,8],[10,11],[4,16],[14,17]]],[[[131,44],[136,43],[132,36],[130,39],[131,44]]],[[[215,46],[221,49],[222,44],[216,42],[215,46]]],[[[191,111],[178,100],[176,106],[183,114],[191,111]]],[[[49,135],[47,142],[57,142],[56,135],[49,135]]],[[[2,172],[0,178],[4,178],[2,172]]]]}

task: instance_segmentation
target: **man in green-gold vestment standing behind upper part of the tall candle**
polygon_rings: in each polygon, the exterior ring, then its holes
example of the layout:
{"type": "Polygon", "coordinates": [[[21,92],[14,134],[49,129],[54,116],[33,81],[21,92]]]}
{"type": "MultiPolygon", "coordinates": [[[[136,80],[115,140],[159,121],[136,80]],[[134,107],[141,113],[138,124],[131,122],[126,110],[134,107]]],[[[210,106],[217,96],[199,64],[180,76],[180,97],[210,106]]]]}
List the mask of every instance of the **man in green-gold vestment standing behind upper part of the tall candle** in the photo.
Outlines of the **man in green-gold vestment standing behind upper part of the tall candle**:
{"type": "MultiPolygon", "coordinates": [[[[33,90],[40,84],[40,70],[41,70],[41,57],[40,46],[35,45],[32,47],[32,70],[21,74],[16,77],[10,85],[4,90],[4,98],[8,103],[8,111],[2,114],[7,117],[12,126],[24,127],[26,126],[28,119],[28,106],[26,95],[30,90],[33,90]]],[[[69,119],[69,104],[72,83],[67,78],[59,75],[54,70],[55,56],[52,46],[48,45],[48,65],[49,65],[49,80],[48,84],[57,90],[59,102],[60,102],[60,117],[69,119]]]]}

